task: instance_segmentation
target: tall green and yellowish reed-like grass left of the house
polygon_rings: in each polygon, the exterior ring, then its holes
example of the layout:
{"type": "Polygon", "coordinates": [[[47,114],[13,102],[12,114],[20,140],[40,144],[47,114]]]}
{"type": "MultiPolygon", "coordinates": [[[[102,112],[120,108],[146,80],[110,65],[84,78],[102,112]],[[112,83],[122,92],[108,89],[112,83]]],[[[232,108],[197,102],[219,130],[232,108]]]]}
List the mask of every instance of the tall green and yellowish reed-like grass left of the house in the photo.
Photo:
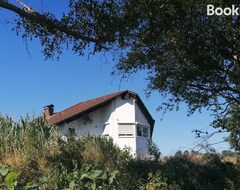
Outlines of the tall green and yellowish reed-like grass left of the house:
{"type": "Polygon", "coordinates": [[[44,157],[54,147],[55,134],[43,117],[26,116],[15,122],[0,115],[0,161],[11,165],[44,157]]]}

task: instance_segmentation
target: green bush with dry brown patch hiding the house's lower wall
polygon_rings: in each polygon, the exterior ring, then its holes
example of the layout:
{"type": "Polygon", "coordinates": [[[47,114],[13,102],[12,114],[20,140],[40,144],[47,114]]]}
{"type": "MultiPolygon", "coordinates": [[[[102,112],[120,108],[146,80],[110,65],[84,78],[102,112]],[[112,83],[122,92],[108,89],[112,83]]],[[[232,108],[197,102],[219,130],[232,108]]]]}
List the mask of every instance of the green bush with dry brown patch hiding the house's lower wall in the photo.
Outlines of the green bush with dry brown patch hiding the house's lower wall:
{"type": "Polygon", "coordinates": [[[67,142],[59,140],[59,151],[47,158],[49,165],[71,171],[83,163],[98,169],[115,170],[124,166],[131,157],[128,152],[120,150],[112,139],[88,136],[67,142]]]}

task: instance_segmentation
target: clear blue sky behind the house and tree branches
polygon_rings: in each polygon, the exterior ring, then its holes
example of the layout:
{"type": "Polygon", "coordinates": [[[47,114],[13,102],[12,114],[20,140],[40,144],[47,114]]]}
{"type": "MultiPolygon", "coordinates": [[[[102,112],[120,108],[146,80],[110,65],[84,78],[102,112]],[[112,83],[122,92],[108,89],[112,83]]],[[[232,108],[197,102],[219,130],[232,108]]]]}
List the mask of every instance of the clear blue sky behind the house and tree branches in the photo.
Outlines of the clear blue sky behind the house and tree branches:
{"type": "MultiPolygon", "coordinates": [[[[25,2],[31,4],[30,0],[25,2]]],[[[55,2],[48,1],[43,9],[53,10],[55,2]]],[[[58,1],[58,5],[57,10],[61,10],[63,4],[58,1]]],[[[11,31],[12,25],[4,24],[5,18],[12,18],[12,14],[0,10],[0,18],[0,113],[18,119],[26,113],[39,115],[43,106],[48,104],[54,104],[55,110],[61,111],[83,100],[129,89],[140,95],[156,120],[153,141],[164,155],[193,148],[197,143],[191,132],[193,129],[212,131],[208,126],[211,122],[209,113],[187,117],[184,104],[180,111],[168,112],[161,120],[162,113],[156,108],[162,99],[157,93],[146,98],[144,90],[147,83],[143,72],[120,83],[119,77],[111,75],[115,62],[110,55],[106,61],[102,53],[88,59],[87,56],[79,57],[71,51],[64,51],[59,61],[45,61],[38,40],[28,41],[29,55],[26,42],[11,31]]],[[[220,140],[222,137],[218,136],[211,141],[220,140]]],[[[219,144],[216,148],[226,149],[227,145],[219,144]]]]}

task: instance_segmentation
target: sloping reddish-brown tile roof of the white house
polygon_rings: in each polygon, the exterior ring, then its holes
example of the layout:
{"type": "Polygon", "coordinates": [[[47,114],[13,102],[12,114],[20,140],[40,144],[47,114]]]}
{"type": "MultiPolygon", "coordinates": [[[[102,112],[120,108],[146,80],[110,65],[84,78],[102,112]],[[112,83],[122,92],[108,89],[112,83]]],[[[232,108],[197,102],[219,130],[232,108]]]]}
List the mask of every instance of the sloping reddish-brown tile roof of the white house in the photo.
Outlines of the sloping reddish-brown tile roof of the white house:
{"type": "Polygon", "coordinates": [[[90,109],[94,109],[97,108],[98,106],[101,106],[104,103],[110,102],[111,100],[113,100],[114,98],[116,98],[119,95],[122,95],[124,93],[126,93],[127,91],[120,91],[120,92],[116,92],[113,94],[109,94],[109,95],[105,95],[99,98],[95,98],[92,100],[87,100],[84,102],[80,102],[68,109],[65,109],[61,112],[57,112],[54,115],[46,118],[48,123],[50,125],[54,125],[54,124],[58,124],[58,123],[62,123],[66,120],[69,120],[73,117],[75,117],[76,115],[80,115],[81,113],[87,112],[90,109]]]}

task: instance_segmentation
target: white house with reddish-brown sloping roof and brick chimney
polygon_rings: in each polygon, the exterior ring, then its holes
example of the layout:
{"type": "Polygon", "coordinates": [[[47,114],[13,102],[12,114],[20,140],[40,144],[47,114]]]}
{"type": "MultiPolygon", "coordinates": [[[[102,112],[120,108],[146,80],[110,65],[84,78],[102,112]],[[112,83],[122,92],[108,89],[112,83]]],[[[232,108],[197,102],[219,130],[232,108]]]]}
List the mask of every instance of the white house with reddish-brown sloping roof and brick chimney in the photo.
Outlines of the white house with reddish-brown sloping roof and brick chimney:
{"type": "Polygon", "coordinates": [[[61,112],[44,108],[50,125],[62,135],[101,135],[112,137],[120,148],[129,148],[134,157],[148,155],[154,120],[138,94],[125,90],[80,102],[61,112]]]}

